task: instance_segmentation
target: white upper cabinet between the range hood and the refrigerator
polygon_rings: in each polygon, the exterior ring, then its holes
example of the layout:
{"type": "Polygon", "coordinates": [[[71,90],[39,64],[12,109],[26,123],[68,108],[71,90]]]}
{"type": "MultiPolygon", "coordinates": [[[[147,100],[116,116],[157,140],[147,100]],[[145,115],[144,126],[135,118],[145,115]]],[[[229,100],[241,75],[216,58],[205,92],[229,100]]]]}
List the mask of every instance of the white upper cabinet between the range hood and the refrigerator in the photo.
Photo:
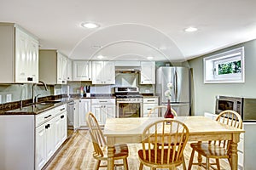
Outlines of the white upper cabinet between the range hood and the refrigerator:
{"type": "Polygon", "coordinates": [[[155,84],[155,64],[152,61],[141,62],[140,84],[155,84]]]}

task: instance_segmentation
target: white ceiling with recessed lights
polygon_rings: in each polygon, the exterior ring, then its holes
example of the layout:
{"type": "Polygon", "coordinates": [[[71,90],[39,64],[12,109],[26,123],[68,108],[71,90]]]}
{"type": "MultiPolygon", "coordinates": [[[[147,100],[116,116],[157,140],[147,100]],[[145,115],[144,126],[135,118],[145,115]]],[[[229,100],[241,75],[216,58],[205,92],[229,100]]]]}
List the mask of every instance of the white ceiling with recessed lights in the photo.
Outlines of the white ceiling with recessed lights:
{"type": "Polygon", "coordinates": [[[255,0],[0,0],[0,22],[71,59],[181,61],[256,38],[255,0]],[[96,30],[80,24],[95,21],[96,30]],[[196,32],[183,31],[195,26],[196,32]]]}

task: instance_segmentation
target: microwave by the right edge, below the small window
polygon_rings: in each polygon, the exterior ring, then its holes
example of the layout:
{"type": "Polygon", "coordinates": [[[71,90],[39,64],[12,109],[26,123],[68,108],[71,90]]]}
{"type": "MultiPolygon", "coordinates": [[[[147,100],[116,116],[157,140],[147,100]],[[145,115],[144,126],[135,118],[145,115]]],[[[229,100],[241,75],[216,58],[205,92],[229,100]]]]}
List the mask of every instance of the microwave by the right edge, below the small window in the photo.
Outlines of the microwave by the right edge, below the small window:
{"type": "Polygon", "coordinates": [[[216,96],[215,113],[236,111],[243,122],[256,122],[256,99],[230,96],[216,96]]]}

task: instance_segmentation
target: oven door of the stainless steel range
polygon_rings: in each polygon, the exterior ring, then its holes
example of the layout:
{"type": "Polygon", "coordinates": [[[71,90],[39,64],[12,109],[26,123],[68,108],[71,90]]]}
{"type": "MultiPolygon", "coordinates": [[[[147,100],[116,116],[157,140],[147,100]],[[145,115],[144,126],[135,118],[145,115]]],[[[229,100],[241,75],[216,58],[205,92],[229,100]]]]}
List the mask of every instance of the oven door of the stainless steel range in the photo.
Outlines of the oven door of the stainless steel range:
{"type": "Polygon", "coordinates": [[[117,117],[140,117],[143,113],[143,102],[117,101],[117,117]]]}

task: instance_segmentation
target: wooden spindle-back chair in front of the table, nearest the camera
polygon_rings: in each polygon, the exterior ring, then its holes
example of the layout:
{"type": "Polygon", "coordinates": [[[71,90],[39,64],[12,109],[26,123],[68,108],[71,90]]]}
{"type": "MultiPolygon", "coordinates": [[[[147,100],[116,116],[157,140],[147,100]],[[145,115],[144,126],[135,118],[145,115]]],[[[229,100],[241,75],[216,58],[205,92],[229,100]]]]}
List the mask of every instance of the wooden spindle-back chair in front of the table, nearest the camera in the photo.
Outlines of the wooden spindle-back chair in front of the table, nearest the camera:
{"type": "Polygon", "coordinates": [[[143,165],[156,168],[180,166],[186,169],[183,159],[183,150],[189,139],[189,129],[177,120],[161,120],[145,127],[142,135],[143,150],[138,150],[140,160],[139,169],[143,165]],[[162,144],[161,147],[154,147],[162,144]],[[168,144],[168,145],[165,145],[168,144]]]}

